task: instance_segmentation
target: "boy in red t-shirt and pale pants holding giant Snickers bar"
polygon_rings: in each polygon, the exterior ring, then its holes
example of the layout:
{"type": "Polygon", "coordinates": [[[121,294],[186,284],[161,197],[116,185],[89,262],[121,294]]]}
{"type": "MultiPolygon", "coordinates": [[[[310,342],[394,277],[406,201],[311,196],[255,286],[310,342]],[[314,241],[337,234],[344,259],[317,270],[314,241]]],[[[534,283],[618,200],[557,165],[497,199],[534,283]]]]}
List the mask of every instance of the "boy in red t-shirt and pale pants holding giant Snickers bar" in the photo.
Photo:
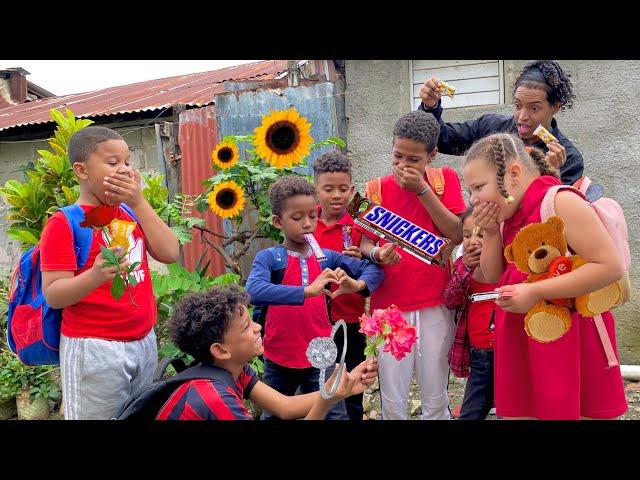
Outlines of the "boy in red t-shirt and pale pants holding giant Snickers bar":
{"type": "MultiPolygon", "coordinates": [[[[432,190],[426,167],[438,149],[440,127],[433,115],[416,111],[400,117],[393,130],[393,173],[380,179],[383,207],[435,235],[462,240],[460,219],[465,210],[455,170],[442,169],[444,190],[432,190]]],[[[365,258],[382,263],[385,280],[371,296],[371,308],[395,304],[416,327],[418,340],[410,354],[397,361],[380,352],[378,361],[383,419],[406,419],[412,373],[420,387],[423,420],[448,419],[447,352],[453,340],[453,313],[444,305],[442,291],[449,281],[447,268],[428,265],[413,255],[390,249],[378,237],[363,232],[360,250],[365,258]],[[375,246],[375,242],[380,245],[375,246]]]]}

